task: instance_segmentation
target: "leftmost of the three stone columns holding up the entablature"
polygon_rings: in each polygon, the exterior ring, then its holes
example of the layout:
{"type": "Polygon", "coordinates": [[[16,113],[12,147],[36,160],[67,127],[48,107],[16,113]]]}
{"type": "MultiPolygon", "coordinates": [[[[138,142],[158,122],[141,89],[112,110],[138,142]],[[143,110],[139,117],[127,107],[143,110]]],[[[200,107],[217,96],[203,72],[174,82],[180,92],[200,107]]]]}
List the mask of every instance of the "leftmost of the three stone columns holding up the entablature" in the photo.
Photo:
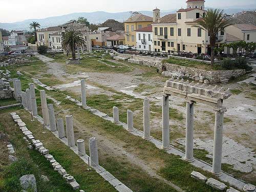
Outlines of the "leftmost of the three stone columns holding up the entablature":
{"type": "Polygon", "coordinates": [[[169,130],[169,96],[163,95],[162,103],[162,149],[170,149],[170,130],[169,130]]]}

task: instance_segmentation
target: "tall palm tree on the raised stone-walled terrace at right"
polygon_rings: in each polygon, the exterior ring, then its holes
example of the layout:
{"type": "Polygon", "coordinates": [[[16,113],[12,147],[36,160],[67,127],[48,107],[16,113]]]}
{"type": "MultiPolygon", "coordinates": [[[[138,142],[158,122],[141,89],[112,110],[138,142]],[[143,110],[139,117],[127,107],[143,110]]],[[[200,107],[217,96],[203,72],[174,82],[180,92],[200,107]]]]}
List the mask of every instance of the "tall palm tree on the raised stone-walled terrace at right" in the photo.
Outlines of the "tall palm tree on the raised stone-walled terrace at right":
{"type": "Polygon", "coordinates": [[[208,9],[205,16],[201,15],[202,18],[197,21],[198,25],[193,26],[201,28],[204,31],[208,31],[210,36],[211,66],[214,65],[214,48],[216,44],[216,36],[220,30],[231,25],[229,20],[224,19],[223,12],[224,11],[220,9],[208,9]]]}

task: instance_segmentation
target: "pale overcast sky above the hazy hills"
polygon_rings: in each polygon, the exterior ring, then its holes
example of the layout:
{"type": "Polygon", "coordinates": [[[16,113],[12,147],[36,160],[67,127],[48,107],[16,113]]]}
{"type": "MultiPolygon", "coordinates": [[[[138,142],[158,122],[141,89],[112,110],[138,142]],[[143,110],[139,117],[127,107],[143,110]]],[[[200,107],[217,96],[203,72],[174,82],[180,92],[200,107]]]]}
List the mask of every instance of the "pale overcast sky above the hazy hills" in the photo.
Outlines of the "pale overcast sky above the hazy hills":
{"type": "MultiPolygon", "coordinates": [[[[152,10],[172,10],[186,6],[186,0],[0,0],[0,23],[13,23],[29,18],[45,18],[74,12],[123,12],[152,10]]],[[[249,8],[255,0],[206,0],[205,7],[249,8]]],[[[253,7],[252,7],[253,8],[253,7]]],[[[256,8],[256,7],[254,7],[256,8]]]]}

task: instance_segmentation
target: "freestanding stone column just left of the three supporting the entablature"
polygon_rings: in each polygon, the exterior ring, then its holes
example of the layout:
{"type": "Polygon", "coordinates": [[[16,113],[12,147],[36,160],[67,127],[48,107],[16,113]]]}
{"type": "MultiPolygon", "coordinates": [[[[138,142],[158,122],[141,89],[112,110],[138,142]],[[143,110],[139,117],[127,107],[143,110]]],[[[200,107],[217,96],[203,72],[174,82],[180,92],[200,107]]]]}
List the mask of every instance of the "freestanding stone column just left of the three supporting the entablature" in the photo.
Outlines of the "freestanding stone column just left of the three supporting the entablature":
{"type": "Polygon", "coordinates": [[[150,100],[145,97],[143,102],[143,139],[150,140],[150,100]]]}

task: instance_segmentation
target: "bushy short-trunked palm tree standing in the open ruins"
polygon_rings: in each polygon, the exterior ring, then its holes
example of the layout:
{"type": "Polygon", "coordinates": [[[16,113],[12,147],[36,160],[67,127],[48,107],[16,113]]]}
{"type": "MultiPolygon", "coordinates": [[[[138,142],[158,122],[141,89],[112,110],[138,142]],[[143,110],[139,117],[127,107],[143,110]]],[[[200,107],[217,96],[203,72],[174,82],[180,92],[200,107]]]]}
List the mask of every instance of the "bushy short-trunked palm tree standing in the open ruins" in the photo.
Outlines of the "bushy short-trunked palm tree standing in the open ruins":
{"type": "Polygon", "coordinates": [[[63,33],[61,37],[61,46],[67,52],[72,53],[72,59],[76,59],[75,48],[84,46],[84,39],[81,37],[82,34],[76,30],[70,30],[63,33]]]}

